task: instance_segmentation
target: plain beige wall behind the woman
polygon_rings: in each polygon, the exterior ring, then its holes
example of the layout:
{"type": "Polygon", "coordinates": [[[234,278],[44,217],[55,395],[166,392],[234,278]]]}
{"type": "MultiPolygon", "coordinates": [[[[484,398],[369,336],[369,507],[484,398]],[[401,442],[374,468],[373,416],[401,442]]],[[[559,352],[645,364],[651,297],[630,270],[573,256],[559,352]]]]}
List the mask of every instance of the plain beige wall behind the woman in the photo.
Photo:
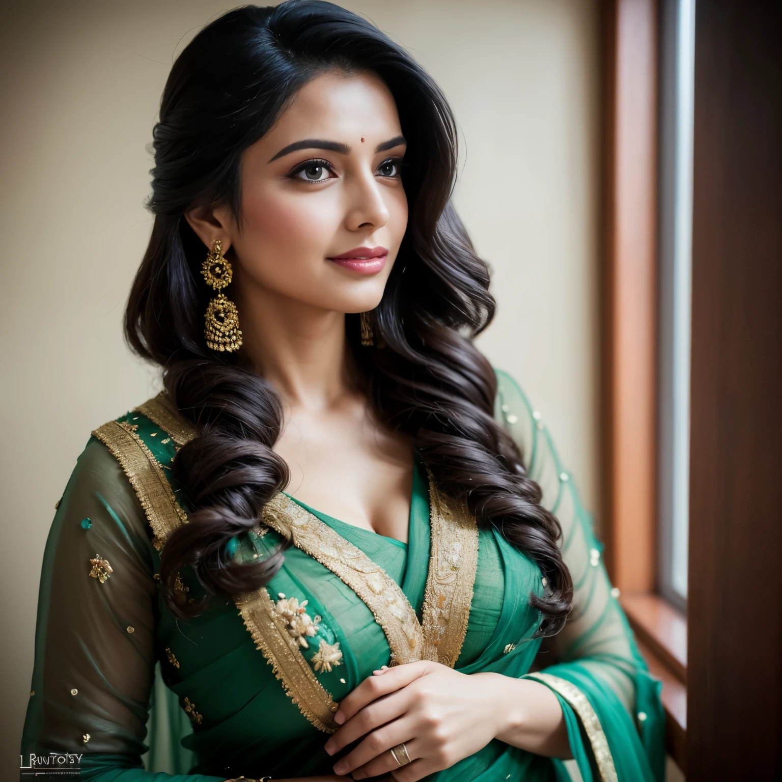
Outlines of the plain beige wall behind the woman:
{"type": "MultiPolygon", "coordinates": [[[[597,501],[594,0],[353,0],[420,59],[463,139],[457,206],[499,302],[480,344],[597,501]]],[[[3,4],[2,715],[11,779],[55,501],[95,425],[155,372],[120,317],[151,225],[146,146],[174,54],[224,2],[3,4]],[[16,9],[8,8],[16,5],[16,9]]]]}

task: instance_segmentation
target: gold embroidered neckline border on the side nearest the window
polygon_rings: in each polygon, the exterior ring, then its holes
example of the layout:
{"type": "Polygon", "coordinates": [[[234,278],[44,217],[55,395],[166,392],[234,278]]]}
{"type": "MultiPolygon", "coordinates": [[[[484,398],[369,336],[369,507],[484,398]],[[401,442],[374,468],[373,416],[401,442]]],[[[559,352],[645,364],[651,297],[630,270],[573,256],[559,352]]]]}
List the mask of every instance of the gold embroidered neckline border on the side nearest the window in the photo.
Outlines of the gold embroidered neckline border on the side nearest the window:
{"type": "Polygon", "coordinates": [[[437,659],[453,668],[465,642],[478,568],[478,525],[467,508],[443,497],[429,476],[432,543],[423,635],[437,659]]]}

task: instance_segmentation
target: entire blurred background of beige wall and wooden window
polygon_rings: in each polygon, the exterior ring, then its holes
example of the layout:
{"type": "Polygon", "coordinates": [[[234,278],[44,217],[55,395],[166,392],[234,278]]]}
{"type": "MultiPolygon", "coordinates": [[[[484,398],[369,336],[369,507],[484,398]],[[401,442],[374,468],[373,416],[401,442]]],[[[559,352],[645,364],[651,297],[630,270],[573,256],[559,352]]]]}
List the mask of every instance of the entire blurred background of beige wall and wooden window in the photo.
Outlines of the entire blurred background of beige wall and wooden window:
{"type": "MultiPolygon", "coordinates": [[[[341,4],[454,109],[455,202],[498,305],[479,347],[595,515],[663,683],[668,779],[777,778],[780,5],[341,4]]],[[[91,430],[160,388],[121,332],[160,94],[230,8],[0,5],[0,779],[16,777],[54,504],[91,430]]]]}

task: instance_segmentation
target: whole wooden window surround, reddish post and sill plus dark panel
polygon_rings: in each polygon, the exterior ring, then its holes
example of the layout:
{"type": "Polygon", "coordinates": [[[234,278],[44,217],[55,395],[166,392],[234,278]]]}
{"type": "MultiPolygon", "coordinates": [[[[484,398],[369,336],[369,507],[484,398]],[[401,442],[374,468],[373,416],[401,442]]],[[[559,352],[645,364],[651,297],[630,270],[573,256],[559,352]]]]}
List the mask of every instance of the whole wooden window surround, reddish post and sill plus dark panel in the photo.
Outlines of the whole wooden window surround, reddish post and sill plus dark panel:
{"type": "Polygon", "coordinates": [[[695,17],[689,622],[655,590],[658,0],[601,9],[606,562],[688,780],[776,779],[782,7],[699,0],[695,17]]]}

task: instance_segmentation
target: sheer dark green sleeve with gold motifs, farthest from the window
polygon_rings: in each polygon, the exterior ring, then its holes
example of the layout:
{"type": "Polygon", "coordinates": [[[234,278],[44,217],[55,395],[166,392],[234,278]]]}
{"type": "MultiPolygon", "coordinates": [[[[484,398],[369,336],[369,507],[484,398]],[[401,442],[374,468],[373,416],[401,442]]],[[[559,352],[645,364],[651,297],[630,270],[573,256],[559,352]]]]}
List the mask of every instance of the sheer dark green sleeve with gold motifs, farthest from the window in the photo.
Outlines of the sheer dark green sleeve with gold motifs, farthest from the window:
{"type": "MultiPolygon", "coordinates": [[[[23,758],[81,755],[84,782],[224,779],[143,768],[153,684],[159,705],[170,697],[155,676],[155,558],[130,482],[92,439],[46,543],[23,758]]],[[[151,726],[159,737],[163,727],[151,726]]]]}

